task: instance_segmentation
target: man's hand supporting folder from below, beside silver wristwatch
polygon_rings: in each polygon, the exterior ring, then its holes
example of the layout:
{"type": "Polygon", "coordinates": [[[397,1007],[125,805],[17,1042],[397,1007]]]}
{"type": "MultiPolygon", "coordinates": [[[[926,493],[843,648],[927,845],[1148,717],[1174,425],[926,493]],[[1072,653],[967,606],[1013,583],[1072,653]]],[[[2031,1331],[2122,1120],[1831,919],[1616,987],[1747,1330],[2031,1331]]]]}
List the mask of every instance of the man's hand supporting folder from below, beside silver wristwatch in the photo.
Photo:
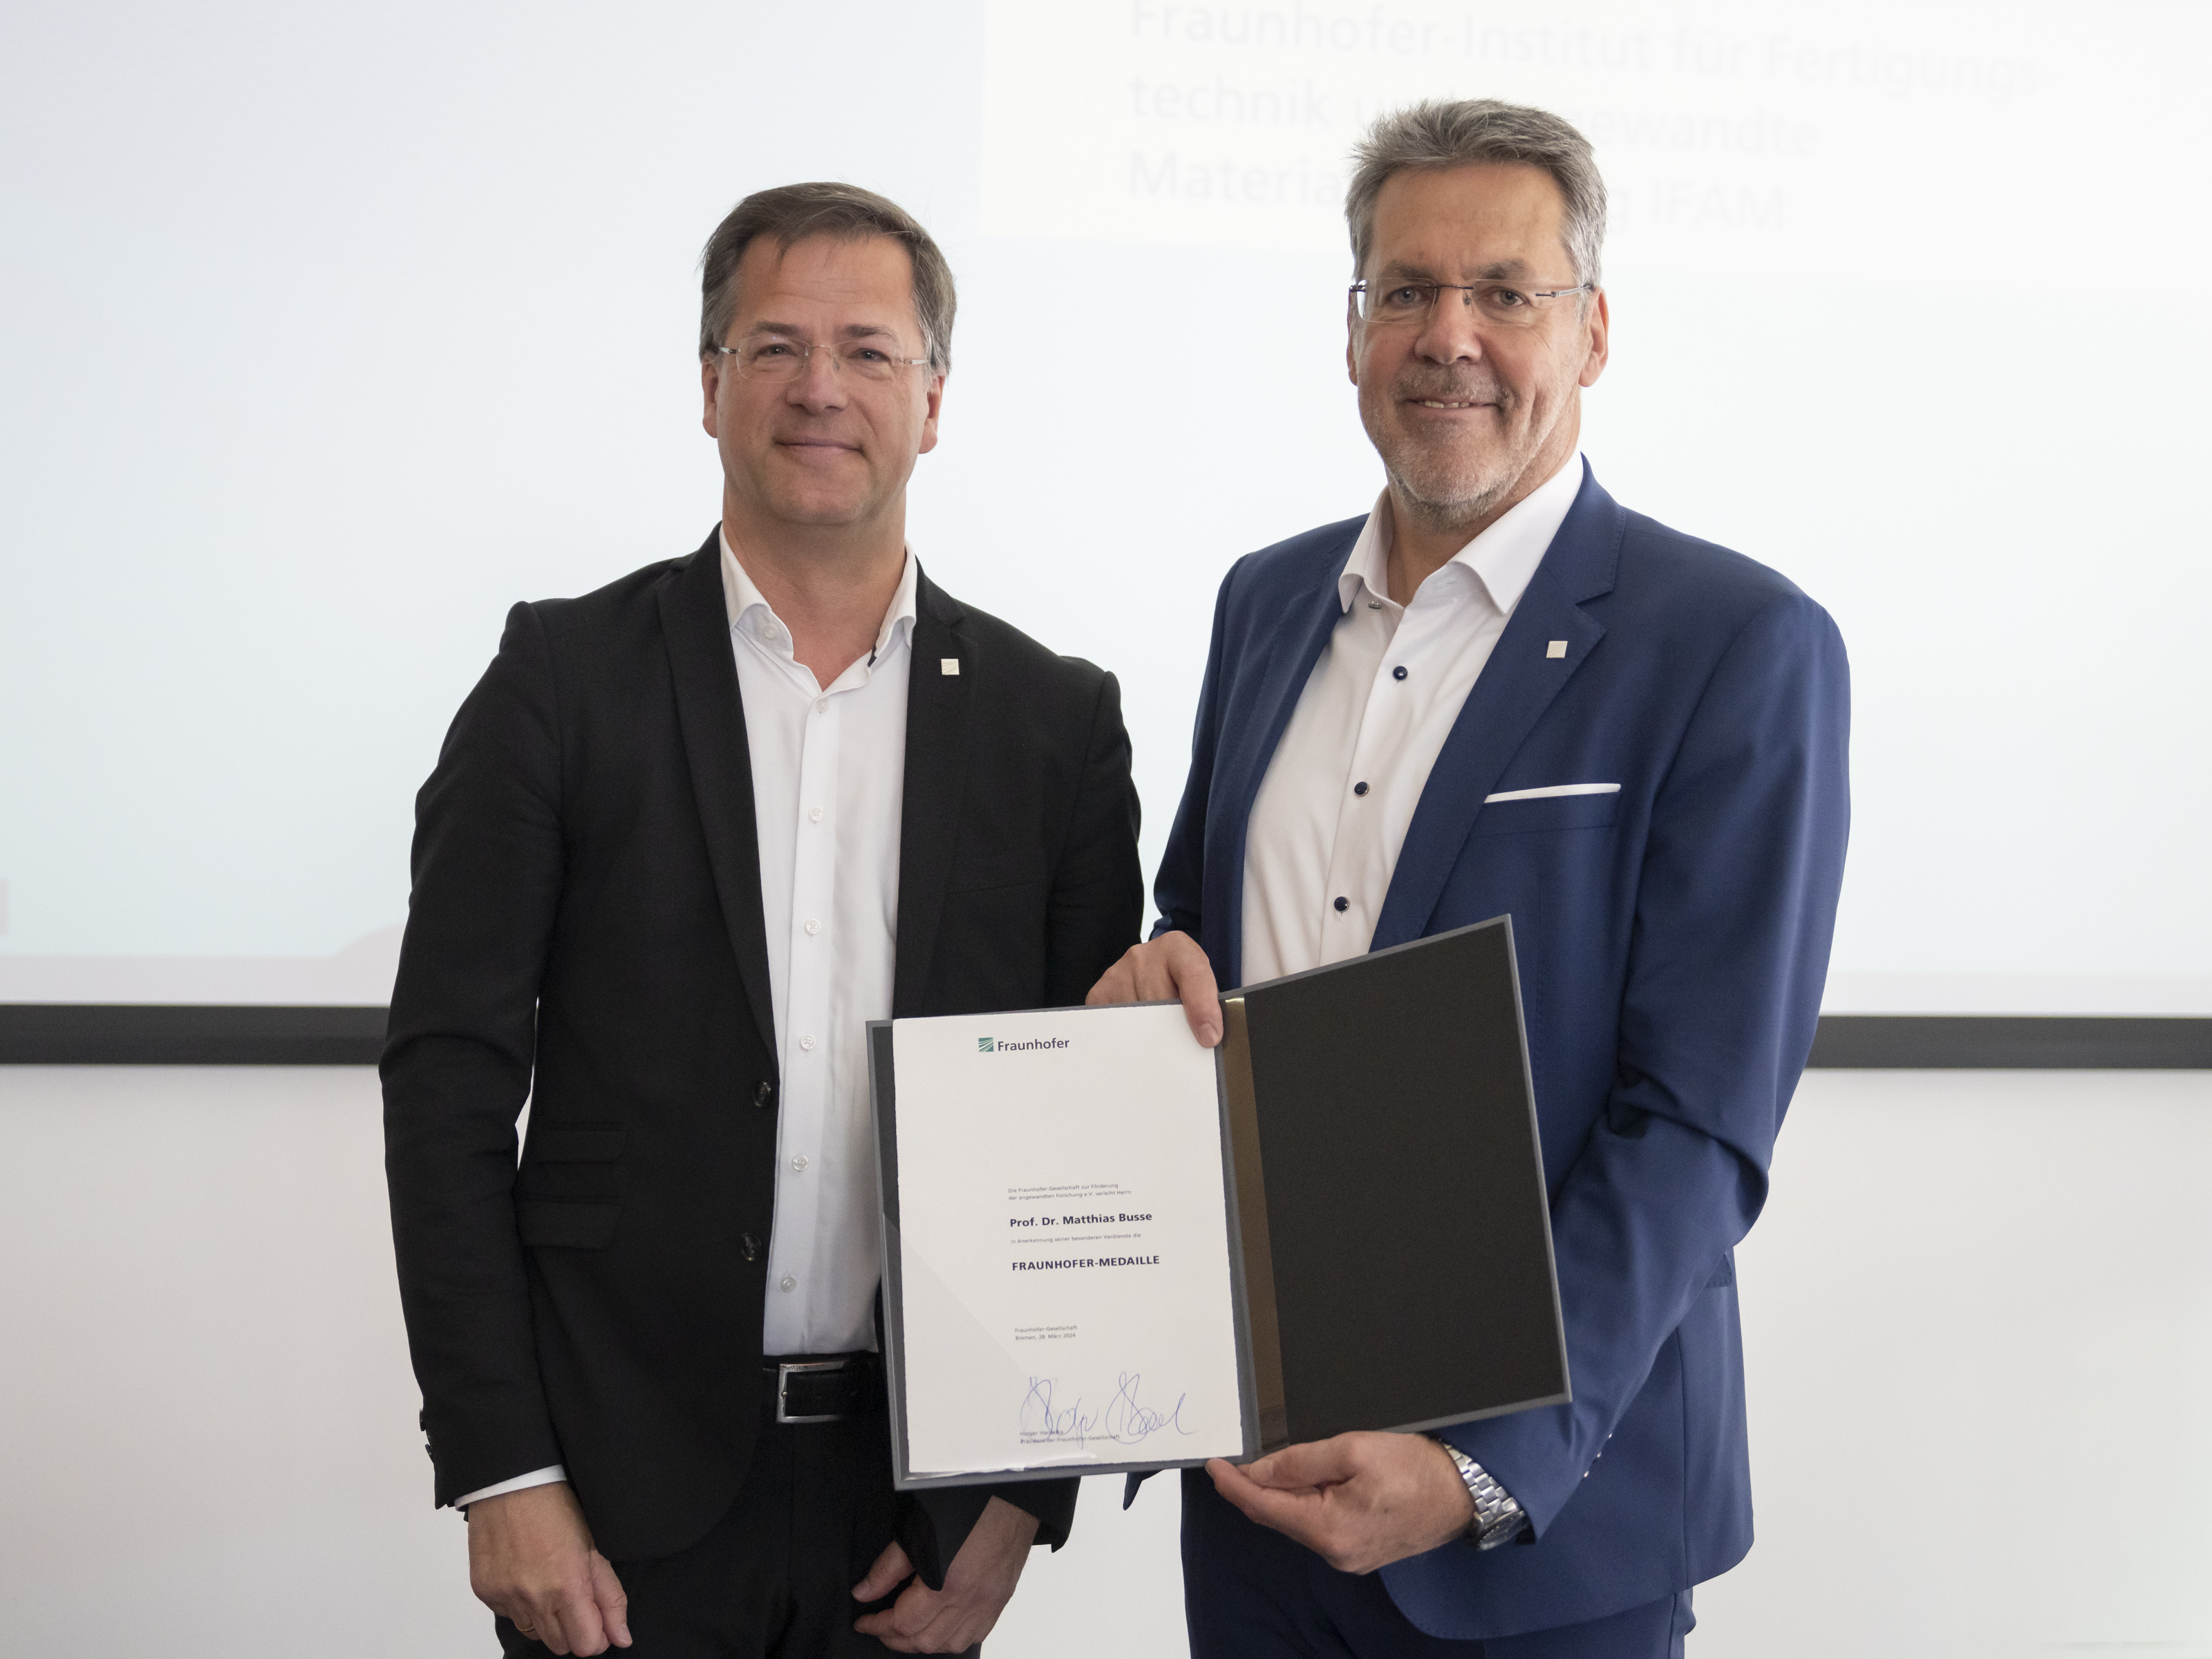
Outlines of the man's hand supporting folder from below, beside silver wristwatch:
{"type": "Polygon", "coordinates": [[[1467,1531],[1475,1500],[1451,1455],[1420,1433],[1340,1433],[1239,1469],[1206,1464],[1214,1491],[1338,1573],[1427,1555],[1467,1531]]]}

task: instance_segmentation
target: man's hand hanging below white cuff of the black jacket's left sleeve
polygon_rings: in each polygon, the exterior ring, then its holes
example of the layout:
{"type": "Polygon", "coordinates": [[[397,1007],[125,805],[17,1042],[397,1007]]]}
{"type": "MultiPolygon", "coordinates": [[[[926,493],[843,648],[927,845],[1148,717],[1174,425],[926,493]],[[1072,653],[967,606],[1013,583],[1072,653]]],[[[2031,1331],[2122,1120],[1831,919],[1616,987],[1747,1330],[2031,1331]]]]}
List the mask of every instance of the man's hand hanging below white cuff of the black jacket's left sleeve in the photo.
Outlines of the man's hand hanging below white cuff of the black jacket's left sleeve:
{"type": "Polygon", "coordinates": [[[469,1588],[553,1652],[630,1646],[630,1599],[566,1480],[469,1504],[469,1588]]]}

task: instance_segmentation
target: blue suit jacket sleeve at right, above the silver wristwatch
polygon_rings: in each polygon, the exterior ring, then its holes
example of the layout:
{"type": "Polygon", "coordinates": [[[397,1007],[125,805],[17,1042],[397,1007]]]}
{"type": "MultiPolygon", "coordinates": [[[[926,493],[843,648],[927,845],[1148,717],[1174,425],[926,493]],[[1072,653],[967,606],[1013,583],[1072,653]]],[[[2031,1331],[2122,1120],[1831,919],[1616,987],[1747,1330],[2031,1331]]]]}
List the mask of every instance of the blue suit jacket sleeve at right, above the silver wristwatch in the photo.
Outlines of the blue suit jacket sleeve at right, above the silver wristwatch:
{"type": "Polygon", "coordinates": [[[1781,597],[1721,655],[1652,803],[1615,1084],[1551,1212],[1575,1400],[1444,1431],[1535,1535],[1765,1201],[1827,978],[1847,748],[1836,624],[1781,597]]]}

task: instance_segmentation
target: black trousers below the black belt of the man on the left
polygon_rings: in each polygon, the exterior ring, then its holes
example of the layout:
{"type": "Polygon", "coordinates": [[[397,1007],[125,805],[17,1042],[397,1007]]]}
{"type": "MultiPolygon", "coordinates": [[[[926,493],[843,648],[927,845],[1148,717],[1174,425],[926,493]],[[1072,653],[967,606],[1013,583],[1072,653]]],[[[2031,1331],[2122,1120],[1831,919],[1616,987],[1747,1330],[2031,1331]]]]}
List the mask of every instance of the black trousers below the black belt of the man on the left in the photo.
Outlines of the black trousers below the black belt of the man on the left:
{"type": "MultiPolygon", "coordinates": [[[[891,1542],[891,1431],[876,1402],[843,1422],[776,1422],[763,1409],[737,1502],[681,1555],[613,1562],[630,1597],[626,1659],[880,1659],[852,1621],[852,1586],[891,1542]]],[[[495,1621],[509,1659],[551,1650],[495,1621]]],[[[611,1655],[624,1652],[608,1648],[611,1655]]],[[[971,1648],[969,1652],[982,1652],[971,1648]]]]}

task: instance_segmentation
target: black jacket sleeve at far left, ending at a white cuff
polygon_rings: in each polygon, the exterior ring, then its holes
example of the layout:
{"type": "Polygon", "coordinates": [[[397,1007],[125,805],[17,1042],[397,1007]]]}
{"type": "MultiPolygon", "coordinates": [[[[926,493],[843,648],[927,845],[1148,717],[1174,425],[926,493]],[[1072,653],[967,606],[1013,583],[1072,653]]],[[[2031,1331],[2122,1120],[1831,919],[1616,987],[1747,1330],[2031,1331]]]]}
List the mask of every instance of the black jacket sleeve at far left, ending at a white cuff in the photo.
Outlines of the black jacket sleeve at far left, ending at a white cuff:
{"type": "Polygon", "coordinates": [[[560,891],[553,664],[538,613],[518,604],[416,796],[380,1064],[392,1243],[438,1504],[562,1462],[513,1201],[560,891]]]}

